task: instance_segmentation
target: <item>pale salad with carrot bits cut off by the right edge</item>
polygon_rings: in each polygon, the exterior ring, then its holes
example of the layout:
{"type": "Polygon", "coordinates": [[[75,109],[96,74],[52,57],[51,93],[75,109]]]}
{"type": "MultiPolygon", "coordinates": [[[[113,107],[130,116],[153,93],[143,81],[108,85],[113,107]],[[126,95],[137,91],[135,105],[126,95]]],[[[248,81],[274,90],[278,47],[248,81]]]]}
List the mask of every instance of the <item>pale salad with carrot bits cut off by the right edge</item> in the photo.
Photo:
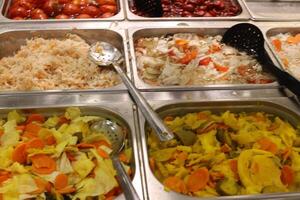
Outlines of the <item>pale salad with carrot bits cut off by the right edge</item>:
{"type": "Polygon", "coordinates": [[[271,37],[271,42],[283,67],[300,79],[300,33],[279,33],[271,37]]]}

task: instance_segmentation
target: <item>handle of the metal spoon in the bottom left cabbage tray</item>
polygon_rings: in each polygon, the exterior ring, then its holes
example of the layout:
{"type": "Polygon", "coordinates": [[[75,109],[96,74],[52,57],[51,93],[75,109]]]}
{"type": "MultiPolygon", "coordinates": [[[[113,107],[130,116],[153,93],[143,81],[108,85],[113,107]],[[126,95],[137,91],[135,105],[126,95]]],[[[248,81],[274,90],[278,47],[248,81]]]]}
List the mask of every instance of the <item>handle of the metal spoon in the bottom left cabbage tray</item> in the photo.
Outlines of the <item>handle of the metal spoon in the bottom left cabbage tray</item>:
{"type": "Polygon", "coordinates": [[[140,200],[136,190],[134,189],[131,180],[129,179],[127,173],[125,172],[122,163],[120,162],[117,156],[112,156],[112,163],[114,165],[115,170],[117,171],[117,178],[123,189],[125,198],[127,200],[140,200]]]}

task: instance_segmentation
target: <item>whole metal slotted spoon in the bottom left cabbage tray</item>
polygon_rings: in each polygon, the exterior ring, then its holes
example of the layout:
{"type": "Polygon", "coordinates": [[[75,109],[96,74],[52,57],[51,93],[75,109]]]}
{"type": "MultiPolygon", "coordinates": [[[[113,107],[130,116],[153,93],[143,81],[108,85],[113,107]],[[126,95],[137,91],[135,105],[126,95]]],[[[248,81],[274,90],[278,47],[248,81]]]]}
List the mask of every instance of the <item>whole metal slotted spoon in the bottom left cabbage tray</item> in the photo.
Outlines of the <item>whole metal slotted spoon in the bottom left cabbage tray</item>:
{"type": "Polygon", "coordinates": [[[95,132],[101,132],[109,139],[112,145],[112,152],[110,153],[110,158],[112,160],[115,170],[117,171],[117,177],[126,199],[139,200],[140,198],[136,190],[134,189],[126,171],[124,170],[118,156],[125,146],[125,135],[121,127],[117,123],[112,122],[110,120],[102,120],[94,122],[91,125],[91,129],[95,132]]]}

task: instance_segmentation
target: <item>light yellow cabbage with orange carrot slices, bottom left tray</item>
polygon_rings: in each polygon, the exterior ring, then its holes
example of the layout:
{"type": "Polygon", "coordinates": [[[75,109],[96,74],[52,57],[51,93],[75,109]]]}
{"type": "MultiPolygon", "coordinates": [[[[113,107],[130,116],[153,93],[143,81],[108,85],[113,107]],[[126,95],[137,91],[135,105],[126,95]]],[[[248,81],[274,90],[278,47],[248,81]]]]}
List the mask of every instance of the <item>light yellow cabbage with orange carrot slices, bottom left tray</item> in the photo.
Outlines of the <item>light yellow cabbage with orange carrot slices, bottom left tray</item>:
{"type": "MultiPolygon", "coordinates": [[[[121,193],[103,120],[82,116],[79,108],[63,115],[23,114],[13,110],[0,120],[0,199],[113,199],[121,193]]],[[[123,129],[127,133],[126,128],[123,129]]],[[[120,160],[132,175],[132,149],[126,141],[120,160]]]]}

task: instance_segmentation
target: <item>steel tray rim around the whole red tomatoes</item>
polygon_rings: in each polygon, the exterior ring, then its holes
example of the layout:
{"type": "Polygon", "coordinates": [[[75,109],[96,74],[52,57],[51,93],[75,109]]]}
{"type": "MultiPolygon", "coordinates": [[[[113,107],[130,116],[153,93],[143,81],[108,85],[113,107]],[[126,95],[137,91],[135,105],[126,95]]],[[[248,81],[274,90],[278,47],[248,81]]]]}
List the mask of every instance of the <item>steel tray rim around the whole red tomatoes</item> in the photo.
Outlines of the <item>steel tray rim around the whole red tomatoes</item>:
{"type": "Polygon", "coordinates": [[[9,6],[12,3],[12,0],[1,0],[0,2],[0,22],[60,22],[60,21],[78,21],[78,22],[87,22],[87,21],[121,21],[125,19],[124,13],[124,2],[123,0],[117,0],[118,2],[118,13],[109,18],[90,18],[90,19],[45,19],[45,20],[12,20],[7,18],[7,13],[9,6]]]}

